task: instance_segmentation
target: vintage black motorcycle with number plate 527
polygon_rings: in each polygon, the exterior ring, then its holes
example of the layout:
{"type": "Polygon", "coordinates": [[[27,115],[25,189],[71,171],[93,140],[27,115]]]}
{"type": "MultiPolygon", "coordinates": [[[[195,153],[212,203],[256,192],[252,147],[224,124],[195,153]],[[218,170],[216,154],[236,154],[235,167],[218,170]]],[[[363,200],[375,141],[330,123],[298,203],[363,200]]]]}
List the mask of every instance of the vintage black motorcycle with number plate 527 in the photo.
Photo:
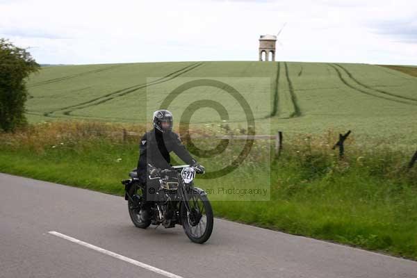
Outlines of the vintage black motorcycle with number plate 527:
{"type": "Polygon", "coordinates": [[[194,186],[194,167],[178,165],[172,168],[174,170],[162,170],[161,177],[156,177],[160,187],[156,189],[156,200],[151,206],[150,219],[146,221],[140,215],[145,185],[140,183],[136,169],[129,173],[130,179],[122,181],[130,218],[136,227],[142,229],[150,224],[162,224],[165,228],[180,224],[191,241],[205,243],[213,231],[213,209],[207,194],[194,186]]]}

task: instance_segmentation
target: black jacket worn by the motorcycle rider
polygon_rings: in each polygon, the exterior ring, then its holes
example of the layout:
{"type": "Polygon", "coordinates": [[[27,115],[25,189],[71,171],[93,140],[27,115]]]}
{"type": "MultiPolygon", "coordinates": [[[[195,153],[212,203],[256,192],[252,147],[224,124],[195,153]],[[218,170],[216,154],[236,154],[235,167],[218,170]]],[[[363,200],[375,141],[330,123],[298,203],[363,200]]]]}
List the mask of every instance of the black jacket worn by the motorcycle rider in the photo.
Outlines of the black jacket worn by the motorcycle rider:
{"type": "Polygon", "coordinates": [[[196,161],[181,143],[179,136],[174,132],[162,133],[152,129],[142,136],[139,142],[138,175],[147,173],[147,164],[160,169],[171,167],[170,152],[174,152],[187,164],[194,164],[196,161]]]}

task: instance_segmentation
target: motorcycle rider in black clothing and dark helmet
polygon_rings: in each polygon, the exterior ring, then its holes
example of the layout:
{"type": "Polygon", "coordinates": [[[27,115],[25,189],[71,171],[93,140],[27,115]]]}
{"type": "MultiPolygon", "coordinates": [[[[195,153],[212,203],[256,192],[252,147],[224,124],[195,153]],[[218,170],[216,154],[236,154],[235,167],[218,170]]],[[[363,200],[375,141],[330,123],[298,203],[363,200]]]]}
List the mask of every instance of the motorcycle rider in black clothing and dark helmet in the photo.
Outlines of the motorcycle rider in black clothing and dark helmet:
{"type": "Polygon", "coordinates": [[[181,143],[177,133],[172,131],[172,113],[167,110],[154,112],[154,129],[145,133],[140,140],[138,161],[138,179],[145,184],[145,202],[142,202],[140,215],[142,220],[149,220],[150,207],[154,193],[158,190],[161,170],[172,169],[170,152],[174,152],[185,163],[195,167],[196,172],[204,172],[204,167],[190,155],[181,143]],[[154,190],[149,190],[154,188],[154,190]],[[149,191],[149,193],[148,193],[149,191]]]}

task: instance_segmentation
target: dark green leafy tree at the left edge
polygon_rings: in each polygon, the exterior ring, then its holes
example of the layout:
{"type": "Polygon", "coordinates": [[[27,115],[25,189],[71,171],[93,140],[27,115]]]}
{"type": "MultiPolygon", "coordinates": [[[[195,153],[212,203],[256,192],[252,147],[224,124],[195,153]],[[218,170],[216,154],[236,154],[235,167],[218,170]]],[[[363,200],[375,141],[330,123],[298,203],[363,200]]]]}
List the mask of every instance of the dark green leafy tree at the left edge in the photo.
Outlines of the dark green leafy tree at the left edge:
{"type": "Polygon", "coordinates": [[[40,65],[31,54],[0,38],[0,129],[14,131],[26,124],[24,104],[28,92],[26,77],[38,72],[40,65]]]}

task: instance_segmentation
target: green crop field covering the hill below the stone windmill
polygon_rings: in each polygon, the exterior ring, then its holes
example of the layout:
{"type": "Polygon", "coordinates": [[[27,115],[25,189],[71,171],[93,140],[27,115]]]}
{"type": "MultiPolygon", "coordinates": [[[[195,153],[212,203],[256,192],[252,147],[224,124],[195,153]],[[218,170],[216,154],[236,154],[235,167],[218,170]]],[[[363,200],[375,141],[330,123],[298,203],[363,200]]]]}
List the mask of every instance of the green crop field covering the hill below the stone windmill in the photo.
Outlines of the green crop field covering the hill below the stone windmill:
{"type": "MultiPolygon", "coordinates": [[[[408,67],[408,69],[412,69],[408,67]]],[[[417,78],[368,64],[294,62],[178,62],[48,66],[27,81],[28,120],[90,119],[145,123],[177,86],[218,79],[250,104],[258,133],[323,133],[352,130],[355,138],[413,145],[417,138],[417,78]]],[[[245,113],[221,88],[187,90],[169,109],[181,115],[192,100],[224,105],[231,126],[245,126],[245,113]],[[188,103],[187,103],[188,102],[188,103]]],[[[195,124],[219,123],[211,108],[195,124]]]]}

